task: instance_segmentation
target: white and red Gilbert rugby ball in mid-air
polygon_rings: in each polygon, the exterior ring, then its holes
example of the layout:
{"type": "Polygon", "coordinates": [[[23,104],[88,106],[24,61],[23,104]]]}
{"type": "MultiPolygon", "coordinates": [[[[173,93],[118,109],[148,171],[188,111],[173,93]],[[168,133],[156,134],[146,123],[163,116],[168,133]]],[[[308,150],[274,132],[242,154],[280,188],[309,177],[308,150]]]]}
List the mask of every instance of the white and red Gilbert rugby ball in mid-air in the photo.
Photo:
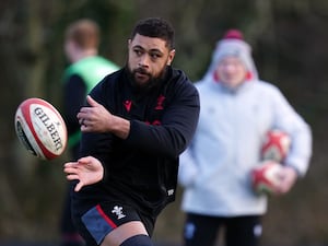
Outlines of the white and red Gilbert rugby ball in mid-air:
{"type": "Polygon", "coordinates": [[[59,112],[45,99],[23,101],[16,109],[14,124],[20,142],[33,155],[52,160],[66,150],[66,124],[59,112]]]}

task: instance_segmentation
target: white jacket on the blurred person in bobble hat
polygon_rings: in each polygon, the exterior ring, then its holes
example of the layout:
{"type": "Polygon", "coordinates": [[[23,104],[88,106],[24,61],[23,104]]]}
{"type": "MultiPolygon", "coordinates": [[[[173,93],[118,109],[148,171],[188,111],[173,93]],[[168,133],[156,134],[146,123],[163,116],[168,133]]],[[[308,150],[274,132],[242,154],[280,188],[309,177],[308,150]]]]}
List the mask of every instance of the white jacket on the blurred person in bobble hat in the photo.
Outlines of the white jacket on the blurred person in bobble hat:
{"type": "Polygon", "coordinates": [[[253,191],[249,174],[260,163],[265,134],[271,129],[290,134],[285,164],[303,176],[312,155],[311,128],[274,85],[255,80],[230,91],[210,78],[196,83],[200,119],[180,156],[181,209],[204,215],[263,214],[267,197],[253,191]]]}

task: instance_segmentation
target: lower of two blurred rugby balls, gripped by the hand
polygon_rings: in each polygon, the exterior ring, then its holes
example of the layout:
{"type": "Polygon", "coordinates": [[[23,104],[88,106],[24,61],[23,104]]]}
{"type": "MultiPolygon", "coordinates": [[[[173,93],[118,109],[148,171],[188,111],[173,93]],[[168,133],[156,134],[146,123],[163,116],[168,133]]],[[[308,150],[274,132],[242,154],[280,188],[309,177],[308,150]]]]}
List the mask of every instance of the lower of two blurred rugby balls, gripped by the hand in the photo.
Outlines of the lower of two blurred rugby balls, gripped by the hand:
{"type": "Polygon", "coordinates": [[[282,165],[267,160],[251,171],[251,186],[257,194],[274,195],[280,183],[282,165]]]}

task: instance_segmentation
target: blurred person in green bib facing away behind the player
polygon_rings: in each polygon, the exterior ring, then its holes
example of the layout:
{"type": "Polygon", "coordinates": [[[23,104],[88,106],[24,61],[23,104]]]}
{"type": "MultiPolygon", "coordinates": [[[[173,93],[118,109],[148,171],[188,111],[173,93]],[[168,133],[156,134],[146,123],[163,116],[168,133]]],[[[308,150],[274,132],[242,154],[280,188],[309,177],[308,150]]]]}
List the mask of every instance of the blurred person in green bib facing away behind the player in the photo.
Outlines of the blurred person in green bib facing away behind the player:
{"type": "MultiPolygon", "coordinates": [[[[68,26],[65,52],[71,65],[63,74],[63,118],[69,133],[69,151],[73,160],[80,149],[80,125],[77,119],[86,94],[107,74],[119,69],[98,55],[99,27],[92,20],[78,20],[68,26]]],[[[69,189],[68,189],[69,190],[69,189]]],[[[71,221],[69,191],[60,222],[61,246],[79,246],[82,239],[71,221]]]]}

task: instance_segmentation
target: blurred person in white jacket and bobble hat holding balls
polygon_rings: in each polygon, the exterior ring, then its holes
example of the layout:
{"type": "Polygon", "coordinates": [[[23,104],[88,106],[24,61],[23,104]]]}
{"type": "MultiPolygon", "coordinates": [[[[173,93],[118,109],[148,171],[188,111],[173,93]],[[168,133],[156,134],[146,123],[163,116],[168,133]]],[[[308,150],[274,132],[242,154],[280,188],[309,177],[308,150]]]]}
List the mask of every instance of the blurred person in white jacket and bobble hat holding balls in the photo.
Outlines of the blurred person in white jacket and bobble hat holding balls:
{"type": "Polygon", "coordinates": [[[309,126],[277,86],[259,80],[243,33],[230,30],[212,54],[200,94],[200,118],[180,156],[185,246],[213,246],[224,232],[226,246],[257,246],[267,196],[257,195],[250,172],[261,162],[268,131],[286,132],[292,145],[279,173],[278,195],[303,177],[312,155],[309,126]]]}

